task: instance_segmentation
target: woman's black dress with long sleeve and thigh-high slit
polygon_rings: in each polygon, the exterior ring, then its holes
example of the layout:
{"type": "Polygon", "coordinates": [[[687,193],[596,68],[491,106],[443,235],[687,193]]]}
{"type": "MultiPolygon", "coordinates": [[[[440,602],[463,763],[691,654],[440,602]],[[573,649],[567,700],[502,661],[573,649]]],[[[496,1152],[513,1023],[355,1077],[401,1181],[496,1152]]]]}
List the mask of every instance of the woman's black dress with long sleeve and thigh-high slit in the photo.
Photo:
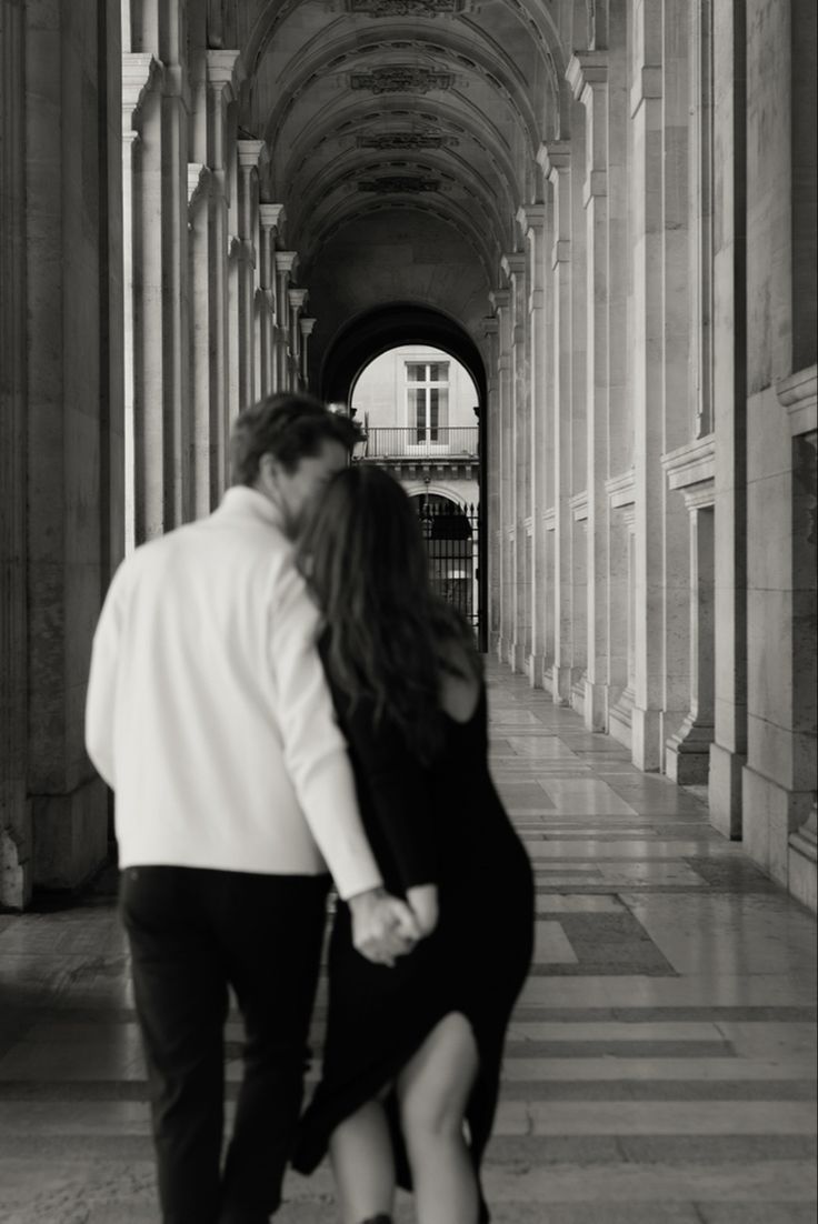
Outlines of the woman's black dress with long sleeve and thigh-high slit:
{"type": "MultiPolygon", "coordinates": [[[[403,895],[438,886],[435,933],[394,968],[372,965],[351,942],[339,903],[328,952],[322,1080],[300,1124],[293,1164],[311,1173],[332,1131],[391,1084],[443,1016],[462,1012],[480,1070],[467,1110],[479,1171],[491,1135],[506,1028],[533,952],[531,867],[489,774],[486,696],[460,723],[443,715],[445,743],[431,766],[409,750],[388,716],[333,692],[364,825],[386,887],[403,895]]],[[[394,1093],[386,1100],[398,1182],[411,1189],[394,1093]]],[[[482,1220],[489,1219],[485,1204],[482,1220]]]]}

